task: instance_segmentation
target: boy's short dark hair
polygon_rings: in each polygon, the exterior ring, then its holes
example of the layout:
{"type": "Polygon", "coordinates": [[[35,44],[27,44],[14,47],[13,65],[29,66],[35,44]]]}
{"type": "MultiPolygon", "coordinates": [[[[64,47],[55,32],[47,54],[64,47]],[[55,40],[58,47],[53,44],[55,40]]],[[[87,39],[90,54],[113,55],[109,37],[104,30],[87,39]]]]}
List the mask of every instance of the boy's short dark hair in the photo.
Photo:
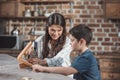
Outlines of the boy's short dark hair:
{"type": "Polygon", "coordinates": [[[86,25],[77,25],[70,29],[69,33],[75,37],[78,41],[83,38],[86,41],[86,45],[89,45],[92,40],[92,30],[86,25]]]}

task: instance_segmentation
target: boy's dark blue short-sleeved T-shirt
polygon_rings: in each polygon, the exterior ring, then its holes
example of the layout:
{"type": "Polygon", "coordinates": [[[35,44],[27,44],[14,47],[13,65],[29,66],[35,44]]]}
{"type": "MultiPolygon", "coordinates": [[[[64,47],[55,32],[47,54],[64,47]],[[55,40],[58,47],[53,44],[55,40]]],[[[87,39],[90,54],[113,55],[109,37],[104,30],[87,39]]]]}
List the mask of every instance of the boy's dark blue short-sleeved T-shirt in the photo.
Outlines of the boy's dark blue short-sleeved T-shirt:
{"type": "Polygon", "coordinates": [[[78,71],[74,74],[76,80],[101,80],[96,58],[89,49],[78,55],[72,62],[71,67],[78,71]]]}

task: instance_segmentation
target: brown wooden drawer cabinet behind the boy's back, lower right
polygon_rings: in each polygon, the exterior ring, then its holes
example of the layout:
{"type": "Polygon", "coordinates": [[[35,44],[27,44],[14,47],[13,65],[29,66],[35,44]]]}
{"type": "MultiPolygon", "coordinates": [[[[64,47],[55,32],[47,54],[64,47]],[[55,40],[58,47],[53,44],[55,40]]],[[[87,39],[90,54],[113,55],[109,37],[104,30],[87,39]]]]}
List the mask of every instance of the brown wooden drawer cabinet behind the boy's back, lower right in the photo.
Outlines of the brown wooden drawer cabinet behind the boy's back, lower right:
{"type": "Polygon", "coordinates": [[[120,79],[120,59],[105,58],[100,59],[99,62],[102,80],[120,79]]]}

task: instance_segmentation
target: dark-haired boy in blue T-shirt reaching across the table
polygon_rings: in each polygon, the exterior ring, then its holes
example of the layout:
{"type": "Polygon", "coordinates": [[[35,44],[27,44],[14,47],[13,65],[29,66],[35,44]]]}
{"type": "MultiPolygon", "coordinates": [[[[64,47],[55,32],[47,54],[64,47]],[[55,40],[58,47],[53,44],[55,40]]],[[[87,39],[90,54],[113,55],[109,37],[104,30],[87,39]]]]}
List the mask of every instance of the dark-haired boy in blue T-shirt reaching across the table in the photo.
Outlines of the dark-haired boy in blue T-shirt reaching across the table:
{"type": "Polygon", "coordinates": [[[101,80],[96,58],[88,49],[92,40],[92,30],[85,25],[73,27],[70,31],[72,50],[78,51],[70,67],[43,67],[33,65],[33,71],[51,72],[63,75],[74,74],[76,80],[101,80]]]}

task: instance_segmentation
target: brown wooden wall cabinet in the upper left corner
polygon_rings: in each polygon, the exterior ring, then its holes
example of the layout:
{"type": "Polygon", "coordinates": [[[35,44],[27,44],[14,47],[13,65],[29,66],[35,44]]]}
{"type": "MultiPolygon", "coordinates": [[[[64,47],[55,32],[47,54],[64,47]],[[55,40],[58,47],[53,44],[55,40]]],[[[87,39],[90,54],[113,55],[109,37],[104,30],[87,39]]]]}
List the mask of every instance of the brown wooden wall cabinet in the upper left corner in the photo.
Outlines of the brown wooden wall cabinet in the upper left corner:
{"type": "Polygon", "coordinates": [[[20,17],[22,11],[23,5],[18,1],[0,2],[0,17],[20,17]]]}

